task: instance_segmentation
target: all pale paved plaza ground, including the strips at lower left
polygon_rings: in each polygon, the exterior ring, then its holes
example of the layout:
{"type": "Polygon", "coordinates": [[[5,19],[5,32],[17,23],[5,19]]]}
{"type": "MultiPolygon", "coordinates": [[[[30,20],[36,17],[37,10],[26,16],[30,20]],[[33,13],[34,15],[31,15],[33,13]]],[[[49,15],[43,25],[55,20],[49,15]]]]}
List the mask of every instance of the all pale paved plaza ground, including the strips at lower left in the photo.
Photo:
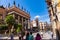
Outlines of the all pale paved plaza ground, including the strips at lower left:
{"type": "MultiPolygon", "coordinates": [[[[37,32],[37,33],[39,33],[41,35],[41,32],[37,32]]],[[[37,33],[33,33],[34,39],[35,39],[37,33]]],[[[52,39],[51,32],[50,33],[49,32],[43,32],[43,36],[41,35],[41,37],[42,37],[43,40],[50,40],[50,39],[52,39]]],[[[8,39],[9,40],[10,37],[0,37],[0,39],[8,39]]],[[[16,36],[16,37],[14,37],[14,39],[15,40],[19,40],[19,37],[16,36]]],[[[53,39],[56,39],[56,38],[53,38],[53,39]]]]}

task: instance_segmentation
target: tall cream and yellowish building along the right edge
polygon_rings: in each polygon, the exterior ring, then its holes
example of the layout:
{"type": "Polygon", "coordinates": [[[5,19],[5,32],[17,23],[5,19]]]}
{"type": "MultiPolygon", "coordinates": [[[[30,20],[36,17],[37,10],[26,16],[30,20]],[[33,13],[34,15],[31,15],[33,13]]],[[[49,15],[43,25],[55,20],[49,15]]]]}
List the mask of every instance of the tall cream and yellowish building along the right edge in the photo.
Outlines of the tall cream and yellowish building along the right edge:
{"type": "Polygon", "coordinates": [[[60,29],[60,0],[46,0],[48,12],[53,28],[53,33],[56,34],[56,29],[60,29]]]}

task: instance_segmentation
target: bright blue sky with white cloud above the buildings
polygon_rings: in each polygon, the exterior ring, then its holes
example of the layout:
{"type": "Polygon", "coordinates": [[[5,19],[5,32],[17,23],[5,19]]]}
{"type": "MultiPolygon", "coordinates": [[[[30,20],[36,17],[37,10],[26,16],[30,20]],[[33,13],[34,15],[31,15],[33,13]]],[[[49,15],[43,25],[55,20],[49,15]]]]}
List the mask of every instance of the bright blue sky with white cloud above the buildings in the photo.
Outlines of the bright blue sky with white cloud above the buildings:
{"type": "MultiPolygon", "coordinates": [[[[8,4],[13,5],[14,0],[0,0],[0,5],[7,7],[8,4]]],[[[24,9],[30,12],[31,20],[34,20],[36,17],[39,18],[39,21],[49,22],[49,14],[47,10],[47,5],[45,0],[15,0],[16,6],[20,4],[20,9],[24,9]]]]}

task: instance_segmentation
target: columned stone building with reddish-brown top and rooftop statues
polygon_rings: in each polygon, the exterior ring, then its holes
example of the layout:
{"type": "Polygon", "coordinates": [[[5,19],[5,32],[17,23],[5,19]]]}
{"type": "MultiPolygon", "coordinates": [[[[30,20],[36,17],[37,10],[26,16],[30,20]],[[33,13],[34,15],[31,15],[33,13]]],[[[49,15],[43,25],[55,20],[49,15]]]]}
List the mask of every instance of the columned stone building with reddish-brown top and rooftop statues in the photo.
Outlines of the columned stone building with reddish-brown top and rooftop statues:
{"type": "Polygon", "coordinates": [[[28,29],[30,27],[30,14],[16,7],[15,3],[12,7],[4,8],[0,6],[0,24],[4,23],[4,19],[7,15],[13,15],[17,23],[21,23],[22,27],[28,29]]]}

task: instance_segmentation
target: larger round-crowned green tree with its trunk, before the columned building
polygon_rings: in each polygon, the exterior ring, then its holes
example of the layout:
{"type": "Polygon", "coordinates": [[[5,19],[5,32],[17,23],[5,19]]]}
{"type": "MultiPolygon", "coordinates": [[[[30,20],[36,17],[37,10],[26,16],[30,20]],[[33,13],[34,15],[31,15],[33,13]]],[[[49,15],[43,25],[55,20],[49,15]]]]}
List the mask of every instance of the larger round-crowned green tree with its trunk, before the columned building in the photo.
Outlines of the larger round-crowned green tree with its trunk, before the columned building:
{"type": "Polygon", "coordinates": [[[14,19],[13,15],[6,16],[5,22],[8,24],[8,30],[9,30],[9,33],[10,33],[11,32],[10,29],[12,29],[12,27],[15,24],[15,19],[14,19]]]}

